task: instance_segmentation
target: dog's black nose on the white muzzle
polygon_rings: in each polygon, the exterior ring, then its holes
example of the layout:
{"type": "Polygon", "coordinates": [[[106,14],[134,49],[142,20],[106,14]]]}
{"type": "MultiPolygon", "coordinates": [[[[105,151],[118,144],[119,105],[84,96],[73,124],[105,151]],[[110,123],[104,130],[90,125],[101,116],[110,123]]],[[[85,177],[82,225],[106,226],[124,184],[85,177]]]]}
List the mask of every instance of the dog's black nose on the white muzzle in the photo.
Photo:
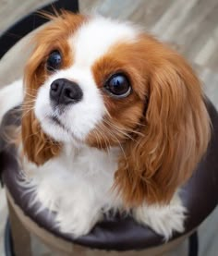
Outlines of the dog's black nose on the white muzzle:
{"type": "Polygon", "coordinates": [[[76,82],[56,79],[50,87],[50,99],[55,104],[75,104],[82,99],[82,91],[76,82]]]}

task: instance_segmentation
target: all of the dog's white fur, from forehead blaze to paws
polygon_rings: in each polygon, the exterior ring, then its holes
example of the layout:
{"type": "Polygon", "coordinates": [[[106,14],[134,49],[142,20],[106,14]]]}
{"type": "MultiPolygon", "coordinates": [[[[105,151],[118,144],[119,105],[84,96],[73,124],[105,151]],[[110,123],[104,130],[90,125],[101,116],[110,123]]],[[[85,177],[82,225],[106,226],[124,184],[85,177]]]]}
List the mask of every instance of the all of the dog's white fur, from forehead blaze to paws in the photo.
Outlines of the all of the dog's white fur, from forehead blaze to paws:
{"type": "MultiPolygon", "coordinates": [[[[37,94],[34,111],[42,129],[65,146],[58,157],[42,166],[24,161],[24,170],[30,187],[34,187],[36,200],[41,201],[44,208],[55,211],[60,229],[73,233],[75,237],[89,233],[108,209],[123,207],[121,199],[111,190],[117,156],[122,152],[117,148],[111,148],[108,152],[89,148],[82,141],[106,111],[102,95],[91,75],[91,65],[114,43],[134,41],[136,34],[137,30],[126,23],[104,18],[92,19],[69,39],[76,53],[74,65],[67,70],[57,71],[44,82],[37,94]],[[81,102],[69,106],[64,113],[54,111],[49,100],[50,84],[58,78],[77,81],[84,94],[81,102]],[[65,128],[54,124],[51,116],[58,116],[65,128]]],[[[1,105],[4,105],[0,116],[20,103],[20,95],[20,81],[0,92],[1,105]]],[[[186,209],[176,194],[169,205],[145,203],[134,209],[133,216],[167,240],[173,231],[183,231],[185,213],[186,209]]]]}

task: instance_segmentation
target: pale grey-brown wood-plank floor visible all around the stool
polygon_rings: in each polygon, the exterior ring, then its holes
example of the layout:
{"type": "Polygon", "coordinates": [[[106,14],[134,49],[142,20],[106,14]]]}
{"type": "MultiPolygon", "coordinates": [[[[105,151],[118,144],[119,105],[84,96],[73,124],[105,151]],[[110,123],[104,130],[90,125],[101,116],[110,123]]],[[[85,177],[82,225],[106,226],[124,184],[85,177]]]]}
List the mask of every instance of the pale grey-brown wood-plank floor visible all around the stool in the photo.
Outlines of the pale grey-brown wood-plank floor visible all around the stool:
{"type": "MultiPolygon", "coordinates": [[[[48,2],[0,0],[0,33],[24,14],[48,2]]],[[[80,0],[79,4],[81,11],[134,21],[170,43],[197,70],[207,95],[218,109],[218,0],[80,0]]],[[[17,49],[17,55],[18,52],[17,49]]],[[[0,87],[21,76],[25,57],[22,54],[16,58],[15,53],[16,50],[0,62],[0,87]]],[[[6,199],[4,190],[0,189],[0,256],[5,255],[5,220],[6,199]]],[[[215,256],[217,251],[218,210],[200,226],[200,256],[215,256]]],[[[185,256],[184,253],[183,248],[171,255],[185,256]]]]}

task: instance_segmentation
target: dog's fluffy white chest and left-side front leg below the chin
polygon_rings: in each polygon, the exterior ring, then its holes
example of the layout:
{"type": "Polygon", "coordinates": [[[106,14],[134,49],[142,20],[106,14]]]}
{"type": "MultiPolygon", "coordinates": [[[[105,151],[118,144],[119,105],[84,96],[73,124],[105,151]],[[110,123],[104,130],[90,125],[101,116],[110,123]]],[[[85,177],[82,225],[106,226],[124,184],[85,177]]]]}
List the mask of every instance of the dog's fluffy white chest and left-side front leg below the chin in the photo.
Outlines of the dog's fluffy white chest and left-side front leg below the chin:
{"type": "Polygon", "coordinates": [[[34,187],[35,200],[42,208],[55,211],[63,232],[77,236],[89,232],[103,209],[119,205],[112,191],[119,150],[100,151],[65,147],[63,152],[42,166],[25,162],[24,169],[34,187]]]}

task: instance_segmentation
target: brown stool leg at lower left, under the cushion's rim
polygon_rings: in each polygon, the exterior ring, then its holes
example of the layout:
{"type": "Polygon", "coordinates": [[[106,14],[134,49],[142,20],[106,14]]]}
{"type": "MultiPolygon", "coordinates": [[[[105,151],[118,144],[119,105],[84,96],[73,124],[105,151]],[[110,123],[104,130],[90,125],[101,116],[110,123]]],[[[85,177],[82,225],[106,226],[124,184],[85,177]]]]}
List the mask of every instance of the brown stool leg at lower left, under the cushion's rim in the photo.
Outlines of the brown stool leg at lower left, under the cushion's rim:
{"type": "Polygon", "coordinates": [[[27,229],[19,221],[17,214],[15,213],[10,202],[8,203],[9,221],[12,232],[12,239],[14,245],[14,252],[16,256],[30,256],[30,234],[27,229]]]}

